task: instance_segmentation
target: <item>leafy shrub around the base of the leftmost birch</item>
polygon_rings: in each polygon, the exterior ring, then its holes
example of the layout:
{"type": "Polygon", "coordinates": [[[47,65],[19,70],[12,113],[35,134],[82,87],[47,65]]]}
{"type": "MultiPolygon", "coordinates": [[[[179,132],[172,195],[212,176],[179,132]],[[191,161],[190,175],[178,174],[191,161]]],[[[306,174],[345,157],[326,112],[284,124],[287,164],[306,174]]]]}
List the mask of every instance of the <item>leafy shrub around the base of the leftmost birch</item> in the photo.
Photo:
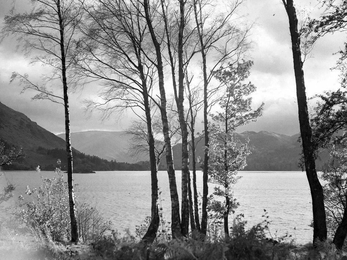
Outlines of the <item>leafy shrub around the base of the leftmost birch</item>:
{"type": "MultiPolygon", "coordinates": [[[[27,227],[52,237],[54,241],[70,240],[70,215],[68,200],[68,184],[64,181],[60,168],[56,168],[52,179],[43,178],[39,189],[31,190],[28,186],[26,194],[35,198],[26,204],[27,208],[17,213],[17,217],[27,227]],[[47,234],[49,232],[49,234],[47,234]]],[[[106,222],[102,215],[76,196],[76,220],[81,242],[92,243],[104,235],[111,222],[106,222]]]]}

